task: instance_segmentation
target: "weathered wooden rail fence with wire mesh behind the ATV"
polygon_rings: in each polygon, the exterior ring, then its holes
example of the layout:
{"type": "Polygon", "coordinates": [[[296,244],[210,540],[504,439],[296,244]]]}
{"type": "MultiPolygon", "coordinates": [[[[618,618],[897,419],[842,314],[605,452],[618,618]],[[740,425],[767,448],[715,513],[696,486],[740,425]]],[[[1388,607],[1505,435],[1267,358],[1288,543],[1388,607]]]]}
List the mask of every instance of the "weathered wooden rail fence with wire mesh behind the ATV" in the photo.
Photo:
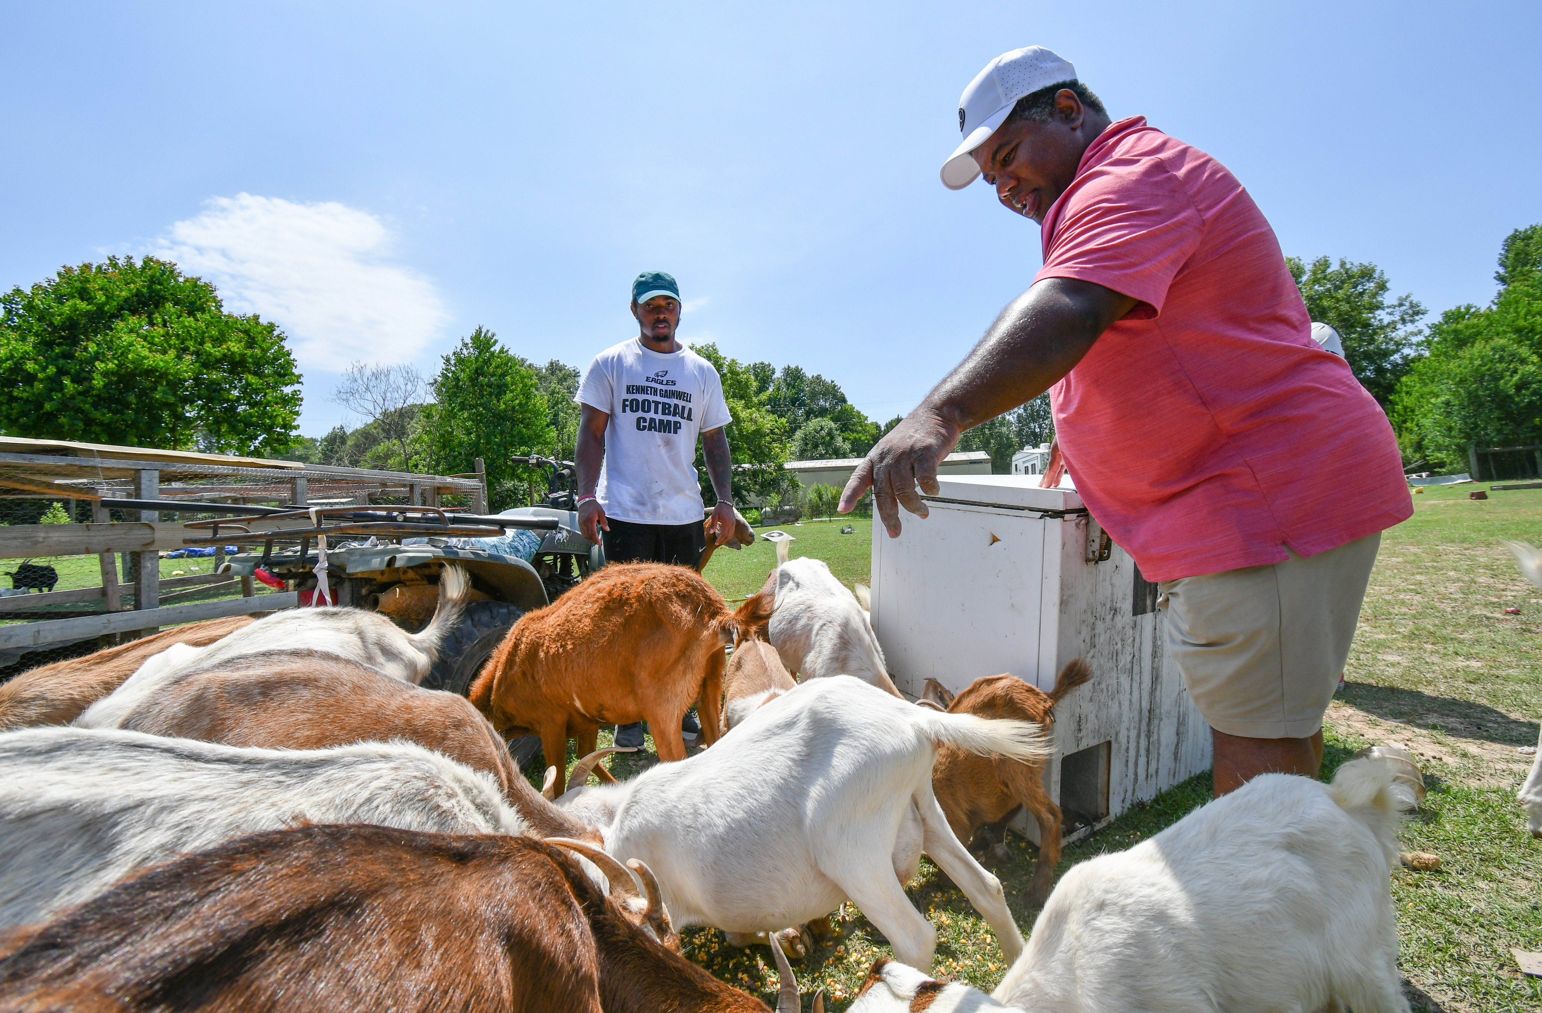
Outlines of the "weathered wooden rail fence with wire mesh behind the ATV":
{"type": "Polygon", "coordinates": [[[157,626],[262,611],[259,600],[219,606],[273,591],[222,572],[227,555],[254,543],[241,518],[221,527],[221,544],[182,544],[208,533],[183,523],[228,517],[200,504],[475,512],[483,503],[476,476],[0,438],[0,682],[157,626]]]}

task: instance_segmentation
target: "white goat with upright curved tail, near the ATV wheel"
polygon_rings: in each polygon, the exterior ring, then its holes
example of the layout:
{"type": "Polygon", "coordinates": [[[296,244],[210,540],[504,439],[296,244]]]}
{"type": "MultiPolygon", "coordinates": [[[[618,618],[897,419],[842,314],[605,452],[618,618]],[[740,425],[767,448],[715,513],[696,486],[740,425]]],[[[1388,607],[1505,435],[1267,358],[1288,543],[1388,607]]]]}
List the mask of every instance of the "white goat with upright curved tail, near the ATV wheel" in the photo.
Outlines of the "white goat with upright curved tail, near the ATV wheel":
{"type": "Polygon", "coordinates": [[[173,644],[145,660],[122,686],[74,720],[77,728],[119,728],[142,703],[179,678],[251,654],[324,651],[392,678],[418,685],[433,668],[439,643],[460,621],[470,578],[458,566],[439,574],[439,607],[421,634],[409,634],[379,612],[364,609],[284,609],[204,648],[173,644]]]}

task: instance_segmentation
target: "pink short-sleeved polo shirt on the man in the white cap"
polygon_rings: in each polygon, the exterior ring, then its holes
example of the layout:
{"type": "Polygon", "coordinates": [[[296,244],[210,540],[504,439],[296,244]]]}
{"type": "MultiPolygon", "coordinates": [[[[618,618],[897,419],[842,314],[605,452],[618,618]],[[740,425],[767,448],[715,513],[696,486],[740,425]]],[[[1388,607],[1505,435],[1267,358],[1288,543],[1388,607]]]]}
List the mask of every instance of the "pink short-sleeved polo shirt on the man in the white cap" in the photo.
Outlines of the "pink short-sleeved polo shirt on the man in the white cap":
{"type": "Polygon", "coordinates": [[[1326,552],[1412,515],[1386,415],[1226,167],[1133,116],[1044,216],[1044,278],[1141,301],[1050,401],[1092,515],[1152,581],[1326,552]]]}

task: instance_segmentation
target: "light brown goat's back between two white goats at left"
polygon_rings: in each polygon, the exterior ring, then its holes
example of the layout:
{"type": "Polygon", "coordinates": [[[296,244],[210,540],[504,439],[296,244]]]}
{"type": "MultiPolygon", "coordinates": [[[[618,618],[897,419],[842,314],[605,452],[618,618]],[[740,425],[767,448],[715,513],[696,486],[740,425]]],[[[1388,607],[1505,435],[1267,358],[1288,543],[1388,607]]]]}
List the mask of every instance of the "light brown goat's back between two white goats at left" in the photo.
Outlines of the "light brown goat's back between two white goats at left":
{"type": "Polygon", "coordinates": [[[230,658],[140,703],[119,728],[270,749],[406,739],[492,774],[513,811],[541,837],[600,840],[597,831],[530,788],[487,719],[464,697],[423,689],[332,654],[230,658]]]}

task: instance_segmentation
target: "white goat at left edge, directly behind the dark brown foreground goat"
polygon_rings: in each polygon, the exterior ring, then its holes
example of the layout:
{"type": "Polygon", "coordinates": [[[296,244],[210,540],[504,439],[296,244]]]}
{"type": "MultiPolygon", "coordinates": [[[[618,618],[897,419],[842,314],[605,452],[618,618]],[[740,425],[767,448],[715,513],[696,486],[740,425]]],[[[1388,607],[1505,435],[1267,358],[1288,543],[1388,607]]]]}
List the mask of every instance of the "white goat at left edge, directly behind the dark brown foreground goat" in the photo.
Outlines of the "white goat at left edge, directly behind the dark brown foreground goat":
{"type": "Polygon", "coordinates": [[[131,731],[0,735],[0,927],[131,870],[298,823],[523,834],[492,776],[404,742],[245,749],[131,731]]]}

